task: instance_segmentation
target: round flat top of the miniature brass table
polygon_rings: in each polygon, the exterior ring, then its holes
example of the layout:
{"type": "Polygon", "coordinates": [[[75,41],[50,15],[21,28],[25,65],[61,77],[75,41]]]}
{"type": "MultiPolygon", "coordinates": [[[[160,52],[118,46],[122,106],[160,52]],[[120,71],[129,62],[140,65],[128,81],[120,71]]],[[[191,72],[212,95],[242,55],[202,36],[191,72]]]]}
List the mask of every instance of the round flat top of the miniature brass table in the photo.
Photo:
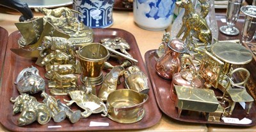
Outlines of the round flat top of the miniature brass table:
{"type": "Polygon", "coordinates": [[[252,54],[242,45],[234,42],[217,42],[211,47],[211,52],[221,61],[230,64],[247,64],[252,61],[252,54]]]}

